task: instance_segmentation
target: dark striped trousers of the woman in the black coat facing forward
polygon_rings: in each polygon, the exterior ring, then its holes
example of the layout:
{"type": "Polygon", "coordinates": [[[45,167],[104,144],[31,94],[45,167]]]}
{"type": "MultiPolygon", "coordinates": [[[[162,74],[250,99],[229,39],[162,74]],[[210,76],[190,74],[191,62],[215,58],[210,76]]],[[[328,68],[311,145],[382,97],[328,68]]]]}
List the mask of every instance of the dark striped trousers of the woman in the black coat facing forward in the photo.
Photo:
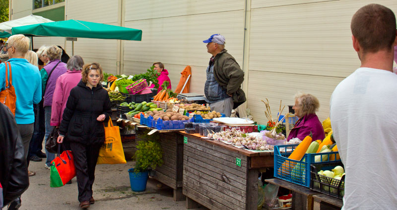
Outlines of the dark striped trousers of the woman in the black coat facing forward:
{"type": "Polygon", "coordinates": [[[89,201],[92,196],[92,185],[95,180],[95,166],[101,144],[84,145],[69,142],[76,167],[78,201],[89,201]]]}

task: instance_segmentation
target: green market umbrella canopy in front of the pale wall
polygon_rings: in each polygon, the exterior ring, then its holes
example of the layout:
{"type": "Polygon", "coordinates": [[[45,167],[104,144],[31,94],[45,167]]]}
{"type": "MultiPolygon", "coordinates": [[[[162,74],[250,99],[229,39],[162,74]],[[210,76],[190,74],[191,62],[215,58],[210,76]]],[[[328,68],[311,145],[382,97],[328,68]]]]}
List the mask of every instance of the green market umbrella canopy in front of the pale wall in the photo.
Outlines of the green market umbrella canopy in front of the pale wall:
{"type": "Polygon", "coordinates": [[[142,40],[142,30],[73,19],[13,27],[12,34],[25,34],[27,36],[142,40]]]}

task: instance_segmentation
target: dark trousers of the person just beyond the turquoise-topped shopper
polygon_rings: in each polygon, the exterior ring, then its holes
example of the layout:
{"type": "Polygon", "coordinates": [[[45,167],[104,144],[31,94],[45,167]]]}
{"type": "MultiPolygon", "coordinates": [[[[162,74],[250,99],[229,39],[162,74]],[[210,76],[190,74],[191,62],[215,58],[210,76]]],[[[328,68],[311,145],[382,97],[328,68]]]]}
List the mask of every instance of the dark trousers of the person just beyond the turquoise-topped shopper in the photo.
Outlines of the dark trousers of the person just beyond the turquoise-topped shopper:
{"type": "Polygon", "coordinates": [[[29,144],[28,165],[29,157],[36,155],[43,149],[43,139],[46,133],[44,126],[44,107],[43,100],[39,104],[33,104],[34,109],[34,132],[29,144]]]}

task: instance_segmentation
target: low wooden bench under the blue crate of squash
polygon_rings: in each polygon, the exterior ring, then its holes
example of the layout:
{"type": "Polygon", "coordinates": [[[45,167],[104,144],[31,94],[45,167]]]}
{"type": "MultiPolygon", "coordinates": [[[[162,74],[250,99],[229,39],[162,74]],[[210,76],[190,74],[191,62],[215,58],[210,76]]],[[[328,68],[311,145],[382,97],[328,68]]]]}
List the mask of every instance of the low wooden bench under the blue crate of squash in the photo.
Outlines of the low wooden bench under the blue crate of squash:
{"type": "Polygon", "coordinates": [[[294,210],[313,210],[313,196],[321,193],[310,190],[307,187],[297,185],[282,179],[266,179],[268,183],[278,185],[292,191],[292,209],[294,210]]]}

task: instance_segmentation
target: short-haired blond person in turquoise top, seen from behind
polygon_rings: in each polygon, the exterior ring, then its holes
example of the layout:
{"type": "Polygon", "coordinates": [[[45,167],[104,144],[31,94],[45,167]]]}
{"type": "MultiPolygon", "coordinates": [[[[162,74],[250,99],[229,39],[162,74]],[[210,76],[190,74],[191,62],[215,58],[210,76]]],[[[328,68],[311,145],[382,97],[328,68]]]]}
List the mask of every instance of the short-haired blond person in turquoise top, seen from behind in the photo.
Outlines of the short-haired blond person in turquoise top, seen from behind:
{"type": "MultiPolygon", "coordinates": [[[[8,39],[8,51],[12,73],[12,85],[15,88],[15,121],[20,132],[24,157],[28,155],[29,142],[33,135],[33,104],[41,101],[41,77],[38,68],[25,59],[30,39],[22,34],[12,35],[8,39]]],[[[8,70],[8,79],[10,70],[8,70]]],[[[0,90],[5,89],[5,65],[0,64],[0,90]]],[[[27,173],[27,171],[26,171],[27,173]]],[[[9,210],[18,209],[20,199],[10,204],[9,210]]]]}

